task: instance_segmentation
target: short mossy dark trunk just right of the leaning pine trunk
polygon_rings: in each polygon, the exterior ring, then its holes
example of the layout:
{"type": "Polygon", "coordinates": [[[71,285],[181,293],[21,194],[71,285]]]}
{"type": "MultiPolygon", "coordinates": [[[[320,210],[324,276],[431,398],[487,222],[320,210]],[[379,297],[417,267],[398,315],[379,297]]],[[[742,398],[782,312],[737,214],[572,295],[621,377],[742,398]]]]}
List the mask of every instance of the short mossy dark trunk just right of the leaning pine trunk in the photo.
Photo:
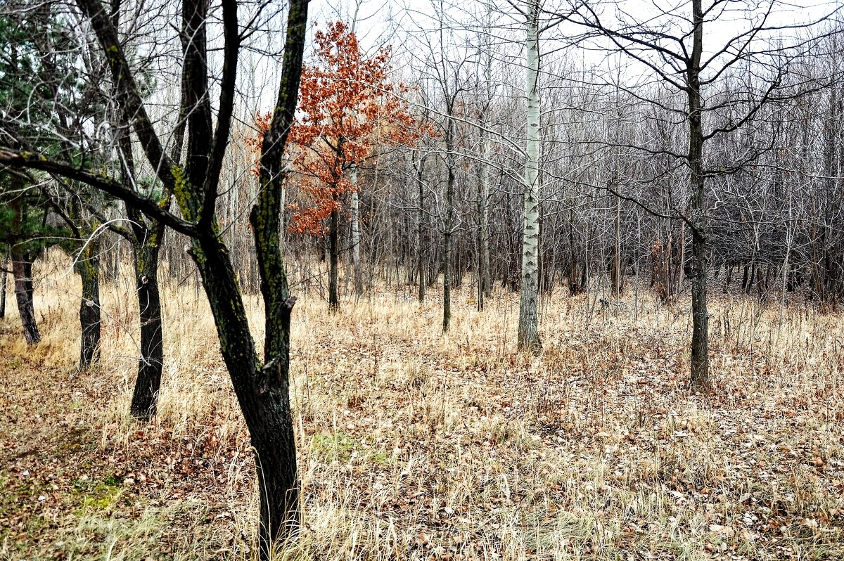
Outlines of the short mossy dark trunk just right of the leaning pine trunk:
{"type": "Polygon", "coordinates": [[[80,252],[75,268],[82,279],[82,301],[79,304],[79,371],[88,370],[100,359],[100,243],[88,240],[80,252]]]}

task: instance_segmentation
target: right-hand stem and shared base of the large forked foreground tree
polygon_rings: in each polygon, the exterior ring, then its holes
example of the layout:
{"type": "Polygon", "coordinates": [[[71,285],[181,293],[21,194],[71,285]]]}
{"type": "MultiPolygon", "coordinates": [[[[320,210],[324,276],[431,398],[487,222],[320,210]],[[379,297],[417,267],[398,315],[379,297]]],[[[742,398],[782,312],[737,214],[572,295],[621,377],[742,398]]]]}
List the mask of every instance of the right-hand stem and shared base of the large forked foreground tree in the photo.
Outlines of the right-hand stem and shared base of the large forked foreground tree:
{"type": "Polygon", "coordinates": [[[259,379],[267,380],[268,390],[260,388],[254,400],[256,407],[244,407],[242,401],[241,407],[256,450],[261,497],[258,542],[262,558],[269,558],[273,544],[296,537],[301,518],[295,434],[289,404],[290,312],[296,299],[289,294],[284,270],[279,217],[285,175],[284,145],[295,118],[307,16],[308,0],[291,0],[279,97],[262,146],[262,189],[251,215],[266,323],[264,365],[257,375],[259,379]]]}

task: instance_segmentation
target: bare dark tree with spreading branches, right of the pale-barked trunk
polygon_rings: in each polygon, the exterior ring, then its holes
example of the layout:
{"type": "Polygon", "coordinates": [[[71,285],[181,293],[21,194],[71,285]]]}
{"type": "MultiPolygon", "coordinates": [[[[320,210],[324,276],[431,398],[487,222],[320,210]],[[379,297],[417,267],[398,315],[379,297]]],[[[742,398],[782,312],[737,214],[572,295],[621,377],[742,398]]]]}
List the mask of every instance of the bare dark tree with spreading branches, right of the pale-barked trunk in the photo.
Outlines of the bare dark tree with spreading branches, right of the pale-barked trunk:
{"type": "MultiPolygon", "coordinates": [[[[691,385],[701,388],[709,383],[710,191],[717,177],[743,169],[763,151],[751,147],[732,157],[718,154],[716,158],[707,152],[707,146],[714,139],[744,127],[766,104],[797,94],[795,81],[800,78],[790,73],[788,62],[808,41],[796,40],[790,46],[764,43],[775,31],[795,28],[791,24],[772,24],[776,0],[747,4],[744,29],[720,43],[713,41],[714,46],[708,50],[705,50],[705,30],[733,18],[735,12],[742,13],[743,7],[734,8],[727,0],[711,0],[706,4],[704,0],[690,0],[672,8],[654,8],[652,13],[643,12],[638,17],[621,10],[607,15],[599,8],[599,5],[584,4],[572,18],[575,24],[598,34],[599,39],[589,43],[591,48],[619,51],[633,63],[631,73],[657,78],[677,94],[664,103],[652,91],[623,86],[630,94],[667,111],[672,126],[685,127],[685,149],[640,143],[632,148],[650,157],[665,156],[685,170],[687,198],[662,214],[683,220],[690,230],[691,385]],[[755,79],[746,80],[738,92],[719,95],[718,84],[741,70],[755,79]]],[[[609,188],[625,197],[617,192],[616,186],[609,188]]]]}

